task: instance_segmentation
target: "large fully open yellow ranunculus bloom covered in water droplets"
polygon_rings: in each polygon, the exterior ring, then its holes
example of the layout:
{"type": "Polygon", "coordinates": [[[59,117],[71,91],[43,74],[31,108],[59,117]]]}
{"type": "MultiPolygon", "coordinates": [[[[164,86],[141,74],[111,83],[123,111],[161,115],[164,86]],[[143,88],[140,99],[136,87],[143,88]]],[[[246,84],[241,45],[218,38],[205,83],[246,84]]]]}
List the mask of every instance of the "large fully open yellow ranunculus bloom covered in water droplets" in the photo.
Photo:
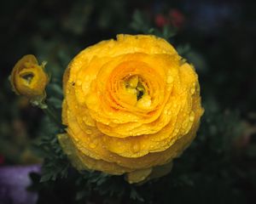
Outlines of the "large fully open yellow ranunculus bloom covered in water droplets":
{"type": "Polygon", "coordinates": [[[86,48],[63,83],[59,141],[73,165],[130,183],[168,173],[203,113],[193,66],[159,37],[118,35],[86,48]]]}

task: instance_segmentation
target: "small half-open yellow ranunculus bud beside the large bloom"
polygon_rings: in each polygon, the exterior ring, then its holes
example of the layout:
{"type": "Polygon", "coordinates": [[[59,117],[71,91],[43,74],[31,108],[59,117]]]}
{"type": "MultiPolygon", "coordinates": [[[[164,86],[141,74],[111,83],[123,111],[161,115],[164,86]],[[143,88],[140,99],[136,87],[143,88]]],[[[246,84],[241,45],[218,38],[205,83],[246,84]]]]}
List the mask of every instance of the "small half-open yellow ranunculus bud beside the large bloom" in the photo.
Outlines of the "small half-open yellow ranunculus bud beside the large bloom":
{"type": "Polygon", "coordinates": [[[36,57],[27,54],[16,63],[10,82],[16,94],[40,101],[45,98],[49,77],[44,71],[44,64],[38,65],[36,57]]]}

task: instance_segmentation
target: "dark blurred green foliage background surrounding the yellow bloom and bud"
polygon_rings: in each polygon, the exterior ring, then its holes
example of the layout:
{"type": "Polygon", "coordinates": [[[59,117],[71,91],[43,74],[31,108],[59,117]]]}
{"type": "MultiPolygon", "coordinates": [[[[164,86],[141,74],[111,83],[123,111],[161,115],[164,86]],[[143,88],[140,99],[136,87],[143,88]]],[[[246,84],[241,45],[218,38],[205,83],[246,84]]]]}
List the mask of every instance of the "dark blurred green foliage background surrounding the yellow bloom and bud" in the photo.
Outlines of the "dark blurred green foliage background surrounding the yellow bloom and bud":
{"type": "Polygon", "coordinates": [[[255,203],[255,6],[249,0],[2,1],[0,168],[41,162],[30,147],[43,137],[33,150],[47,158],[45,182],[32,173],[30,187],[38,203],[255,203]],[[11,92],[15,62],[35,54],[48,61],[49,103],[59,109],[61,75],[80,50],[117,33],[168,37],[174,30],[170,41],[195,65],[206,113],[195,142],[165,178],[129,186],[101,173],[80,176],[52,137],[58,130],[11,92]]]}

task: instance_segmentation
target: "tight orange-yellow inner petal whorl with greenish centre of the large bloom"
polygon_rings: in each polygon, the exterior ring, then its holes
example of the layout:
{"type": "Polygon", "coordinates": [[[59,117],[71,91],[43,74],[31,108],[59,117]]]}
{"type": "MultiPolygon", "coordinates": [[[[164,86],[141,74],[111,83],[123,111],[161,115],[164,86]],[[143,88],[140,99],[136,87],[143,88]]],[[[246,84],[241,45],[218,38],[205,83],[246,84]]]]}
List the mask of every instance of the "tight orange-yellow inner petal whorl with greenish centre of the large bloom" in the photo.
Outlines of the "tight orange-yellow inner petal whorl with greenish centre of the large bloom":
{"type": "Polygon", "coordinates": [[[107,85],[111,107],[147,116],[160,103],[163,79],[157,70],[142,61],[124,61],[111,71],[107,85]]]}

